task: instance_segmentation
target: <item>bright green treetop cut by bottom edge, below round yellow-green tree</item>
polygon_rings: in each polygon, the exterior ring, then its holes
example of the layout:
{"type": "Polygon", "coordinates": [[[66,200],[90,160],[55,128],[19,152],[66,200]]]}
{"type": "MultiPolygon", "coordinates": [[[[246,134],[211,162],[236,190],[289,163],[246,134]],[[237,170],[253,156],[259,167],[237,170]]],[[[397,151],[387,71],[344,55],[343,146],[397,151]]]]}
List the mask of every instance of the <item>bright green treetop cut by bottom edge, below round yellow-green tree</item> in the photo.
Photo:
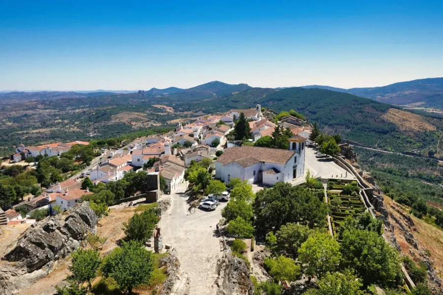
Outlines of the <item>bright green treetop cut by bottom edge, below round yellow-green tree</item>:
{"type": "Polygon", "coordinates": [[[363,284],[349,269],[341,272],[327,272],[318,280],[318,289],[309,289],[306,295],[364,295],[363,284]]]}

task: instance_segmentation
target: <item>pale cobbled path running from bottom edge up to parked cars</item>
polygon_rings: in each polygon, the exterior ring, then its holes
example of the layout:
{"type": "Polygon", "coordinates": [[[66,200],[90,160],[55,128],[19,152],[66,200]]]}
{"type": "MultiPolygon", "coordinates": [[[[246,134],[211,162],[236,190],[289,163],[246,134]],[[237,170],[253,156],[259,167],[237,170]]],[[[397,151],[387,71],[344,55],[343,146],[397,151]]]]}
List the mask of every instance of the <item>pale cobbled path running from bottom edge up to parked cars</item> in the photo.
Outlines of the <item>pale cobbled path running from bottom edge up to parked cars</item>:
{"type": "Polygon", "coordinates": [[[171,207],[162,215],[163,245],[176,249],[181,270],[190,278],[191,295],[214,295],[217,292],[217,259],[222,254],[215,230],[226,203],[211,212],[196,209],[190,214],[185,189],[186,184],[183,184],[177,193],[171,194],[171,207]]]}

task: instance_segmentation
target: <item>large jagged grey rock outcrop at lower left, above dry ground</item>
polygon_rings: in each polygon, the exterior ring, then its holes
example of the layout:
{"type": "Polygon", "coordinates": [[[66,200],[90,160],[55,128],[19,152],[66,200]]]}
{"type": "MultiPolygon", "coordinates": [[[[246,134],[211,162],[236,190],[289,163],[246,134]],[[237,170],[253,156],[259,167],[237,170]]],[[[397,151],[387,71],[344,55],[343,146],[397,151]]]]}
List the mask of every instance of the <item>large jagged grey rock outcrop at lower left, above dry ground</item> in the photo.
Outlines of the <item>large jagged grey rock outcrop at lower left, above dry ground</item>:
{"type": "Polygon", "coordinates": [[[80,247],[88,232],[96,232],[97,221],[89,202],[83,202],[65,213],[34,223],[2,258],[16,263],[1,268],[0,294],[15,294],[45,276],[54,262],[80,247]]]}

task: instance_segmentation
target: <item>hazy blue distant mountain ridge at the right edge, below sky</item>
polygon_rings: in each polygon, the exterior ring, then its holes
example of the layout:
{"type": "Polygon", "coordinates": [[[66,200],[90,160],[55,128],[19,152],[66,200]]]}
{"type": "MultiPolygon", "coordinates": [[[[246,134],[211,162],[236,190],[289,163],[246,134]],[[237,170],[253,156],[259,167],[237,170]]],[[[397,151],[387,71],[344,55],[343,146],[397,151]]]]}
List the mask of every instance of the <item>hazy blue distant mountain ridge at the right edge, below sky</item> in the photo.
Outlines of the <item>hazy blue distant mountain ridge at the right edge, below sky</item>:
{"type": "Polygon", "coordinates": [[[443,78],[427,78],[372,88],[335,88],[322,85],[302,86],[352,93],[393,105],[443,107],[443,78]]]}

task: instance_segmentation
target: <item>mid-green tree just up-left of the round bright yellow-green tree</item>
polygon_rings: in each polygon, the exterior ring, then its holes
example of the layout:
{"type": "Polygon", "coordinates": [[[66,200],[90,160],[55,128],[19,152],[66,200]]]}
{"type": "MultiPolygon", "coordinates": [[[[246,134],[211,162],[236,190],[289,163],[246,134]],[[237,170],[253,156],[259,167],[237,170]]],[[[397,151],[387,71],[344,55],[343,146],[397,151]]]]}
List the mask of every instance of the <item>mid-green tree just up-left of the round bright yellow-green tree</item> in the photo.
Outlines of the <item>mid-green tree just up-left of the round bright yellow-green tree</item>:
{"type": "Polygon", "coordinates": [[[305,225],[286,223],[276,232],[274,252],[297,259],[298,249],[312,234],[312,230],[305,225]]]}

